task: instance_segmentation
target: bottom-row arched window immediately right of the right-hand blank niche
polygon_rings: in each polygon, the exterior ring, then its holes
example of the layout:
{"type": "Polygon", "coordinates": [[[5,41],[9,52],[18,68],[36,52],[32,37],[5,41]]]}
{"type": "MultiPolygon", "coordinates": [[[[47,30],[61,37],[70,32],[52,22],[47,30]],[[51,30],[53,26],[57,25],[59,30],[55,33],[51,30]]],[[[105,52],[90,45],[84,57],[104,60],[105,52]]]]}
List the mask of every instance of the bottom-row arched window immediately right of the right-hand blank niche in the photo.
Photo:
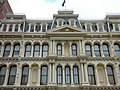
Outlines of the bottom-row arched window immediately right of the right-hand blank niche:
{"type": "Polygon", "coordinates": [[[110,65],[107,65],[107,74],[108,74],[108,80],[110,84],[115,84],[115,77],[113,72],[113,67],[110,65]]]}

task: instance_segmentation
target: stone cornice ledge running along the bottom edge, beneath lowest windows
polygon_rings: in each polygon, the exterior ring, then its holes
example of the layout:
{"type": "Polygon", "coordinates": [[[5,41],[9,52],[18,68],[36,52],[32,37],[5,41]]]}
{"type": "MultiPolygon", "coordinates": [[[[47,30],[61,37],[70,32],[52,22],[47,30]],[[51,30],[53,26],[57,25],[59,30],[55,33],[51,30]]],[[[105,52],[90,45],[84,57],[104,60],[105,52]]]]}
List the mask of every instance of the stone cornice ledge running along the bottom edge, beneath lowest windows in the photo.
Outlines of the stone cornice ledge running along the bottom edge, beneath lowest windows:
{"type": "Polygon", "coordinates": [[[49,86],[49,85],[41,85],[41,86],[0,86],[1,90],[66,90],[66,89],[77,89],[77,90],[120,90],[120,86],[49,86]]]}

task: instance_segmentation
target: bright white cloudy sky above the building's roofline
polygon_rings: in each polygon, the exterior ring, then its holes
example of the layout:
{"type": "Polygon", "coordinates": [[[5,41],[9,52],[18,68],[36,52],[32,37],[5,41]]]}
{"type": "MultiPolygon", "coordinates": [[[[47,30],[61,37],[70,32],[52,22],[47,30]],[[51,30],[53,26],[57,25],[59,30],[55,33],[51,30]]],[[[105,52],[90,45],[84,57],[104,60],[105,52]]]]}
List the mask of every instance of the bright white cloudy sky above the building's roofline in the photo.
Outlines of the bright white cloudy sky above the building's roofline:
{"type": "MultiPolygon", "coordinates": [[[[27,19],[53,19],[64,0],[8,0],[14,14],[27,19]]],[[[80,19],[104,19],[106,14],[120,14],[120,0],[66,0],[66,10],[73,10],[80,19]]]]}

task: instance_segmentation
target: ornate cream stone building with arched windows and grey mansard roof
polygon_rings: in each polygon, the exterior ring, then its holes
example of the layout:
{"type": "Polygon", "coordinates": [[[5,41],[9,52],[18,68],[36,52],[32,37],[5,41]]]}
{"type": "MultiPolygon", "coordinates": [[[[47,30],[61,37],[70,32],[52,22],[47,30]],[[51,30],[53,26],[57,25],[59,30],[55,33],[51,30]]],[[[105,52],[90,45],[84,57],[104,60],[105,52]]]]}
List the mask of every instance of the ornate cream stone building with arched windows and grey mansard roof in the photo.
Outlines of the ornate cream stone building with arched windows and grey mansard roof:
{"type": "Polygon", "coordinates": [[[120,15],[0,20],[0,90],[120,90],[120,15]]]}

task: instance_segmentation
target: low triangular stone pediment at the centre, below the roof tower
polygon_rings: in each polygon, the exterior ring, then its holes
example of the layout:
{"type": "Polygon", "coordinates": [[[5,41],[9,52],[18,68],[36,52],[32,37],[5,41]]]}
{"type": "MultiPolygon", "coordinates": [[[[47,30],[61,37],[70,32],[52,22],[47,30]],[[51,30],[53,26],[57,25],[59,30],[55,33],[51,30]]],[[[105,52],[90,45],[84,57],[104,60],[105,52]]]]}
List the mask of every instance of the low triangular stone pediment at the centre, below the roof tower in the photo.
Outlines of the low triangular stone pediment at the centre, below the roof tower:
{"type": "Polygon", "coordinates": [[[86,32],[86,30],[71,26],[61,26],[51,29],[48,32],[86,32]]]}

